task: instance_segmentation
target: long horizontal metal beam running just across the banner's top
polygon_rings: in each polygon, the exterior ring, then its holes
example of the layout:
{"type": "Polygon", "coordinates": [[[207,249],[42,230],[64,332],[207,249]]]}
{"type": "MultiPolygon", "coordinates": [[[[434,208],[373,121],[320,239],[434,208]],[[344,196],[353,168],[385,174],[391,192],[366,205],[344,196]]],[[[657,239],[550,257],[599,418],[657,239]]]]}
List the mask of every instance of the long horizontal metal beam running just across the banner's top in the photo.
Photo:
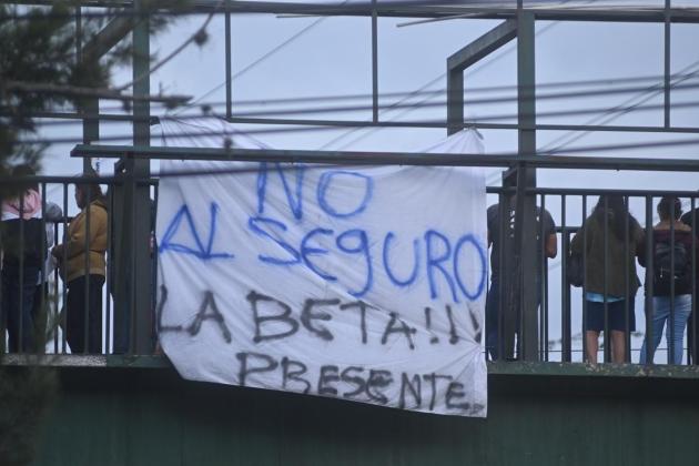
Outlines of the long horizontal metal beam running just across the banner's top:
{"type": "Polygon", "coordinates": [[[699,172],[696,159],[598,158],[575,155],[452,154],[415,152],[301,151],[242,148],[165,148],[79,144],[71,156],[347,165],[536,166],[539,169],[699,172]]]}

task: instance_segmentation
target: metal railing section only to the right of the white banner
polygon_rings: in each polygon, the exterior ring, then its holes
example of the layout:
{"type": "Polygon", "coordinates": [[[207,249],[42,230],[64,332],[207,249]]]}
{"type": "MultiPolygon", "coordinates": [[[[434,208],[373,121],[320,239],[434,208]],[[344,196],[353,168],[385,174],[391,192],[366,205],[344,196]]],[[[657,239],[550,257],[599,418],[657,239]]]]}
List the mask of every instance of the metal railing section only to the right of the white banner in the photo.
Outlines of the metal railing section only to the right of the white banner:
{"type": "MultiPolygon", "coordinates": [[[[498,194],[498,205],[507,205],[507,189],[492,188],[488,192],[498,194]]],[[[492,332],[496,334],[495,338],[490,337],[486,343],[488,356],[492,359],[521,359],[523,341],[534,338],[538,343],[538,361],[564,363],[640,361],[647,364],[654,361],[662,364],[667,361],[679,364],[681,359],[686,364],[697,364],[698,348],[695,343],[699,330],[696,318],[697,235],[693,230],[682,233],[676,231],[679,223],[666,222],[659,225],[660,220],[655,211],[660,199],[678,197],[680,201],[678,206],[681,205],[685,211],[682,221],[696,225],[699,193],[565,189],[528,189],[526,192],[527,195],[537,199],[536,237],[528,239],[529,246],[536,249],[537,260],[535,263],[518,264],[517,244],[510,256],[500,255],[498,263],[494,265],[497,267],[495,275],[492,274],[494,276],[492,284],[495,286],[488,291],[486,307],[489,308],[486,310],[486,323],[490,321],[492,332]],[[615,236],[609,221],[598,224],[596,231],[592,231],[591,226],[596,210],[610,211],[610,196],[620,199],[622,205],[631,213],[631,216],[625,219],[620,239],[615,236]],[[598,201],[597,205],[590,201],[598,201]],[[557,220],[555,226],[541,221],[547,216],[547,211],[557,220]],[[641,214],[636,215],[635,212],[641,214]],[[581,229],[581,225],[588,226],[581,229]],[[661,231],[658,227],[665,229],[666,232],[658,233],[661,231]],[[685,237],[681,241],[680,234],[685,237]],[[546,253],[546,242],[551,235],[558,245],[555,259],[547,257],[546,253]],[[570,244],[576,235],[577,243],[584,245],[582,251],[578,251],[579,272],[582,276],[579,286],[573,286],[567,276],[571,267],[570,257],[575,255],[570,244]],[[596,237],[592,239],[591,235],[596,237]],[[654,285],[657,286],[658,283],[656,271],[659,267],[654,261],[658,257],[658,244],[665,244],[656,239],[659,235],[663,236],[671,251],[668,254],[672,272],[669,290],[654,290],[654,285]],[[680,244],[681,247],[678,246],[680,244]],[[594,251],[595,247],[601,251],[594,251]],[[624,257],[621,265],[618,263],[619,257],[624,257]],[[675,263],[680,260],[686,261],[683,265],[675,263]],[[518,266],[525,269],[525,274],[537,276],[538,290],[534,315],[538,322],[535,333],[526,334],[521,331],[531,328],[525,325],[527,315],[531,314],[524,311],[526,303],[523,303],[523,294],[526,291],[517,283],[520,271],[514,270],[518,266]],[[618,276],[619,270],[625,272],[622,277],[618,276]],[[509,274],[510,283],[507,286],[502,286],[504,274],[509,274]],[[634,283],[637,276],[641,280],[634,283]],[[618,292],[619,284],[621,293],[618,292]],[[611,293],[612,286],[617,290],[616,294],[611,293]],[[497,294],[496,298],[492,296],[494,293],[497,294]],[[655,308],[658,303],[660,310],[655,308]],[[494,311],[493,306],[497,306],[497,310],[494,311]],[[598,325],[595,332],[598,335],[589,334],[594,332],[589,328],[590,313],[601,317],[602,325],[598,325]],[[641,325],[635,325],[636,317],[640,317],[641,325]],[[494,320],[497,321],[496,325],[493,324],[494,320]],[[663,328],[667,344],[660,344],[656,348],[655,338],[660,337],[659,332],[663,328]],[[599,361],[589,347],[597,344],[597,336],[601,338],[599,361]],[[645,348],[641,348],[644,343],[645,348]],[[615,344],[621,348],[617,348],[616,355],[615,344]],[[681,346],[683,357],[673,356],[677,345],[681,346]],[[661,352],[667,354],[667,358],[654,358],[656,353],[661,352]]],[[[490,240],[494,243],[493,247],[506,250],[503,247],[506,244],[504,232],[507,231],[514,236],[515,215],[510,212],[509,219],[503,219],[503,210],[498,211],[497,221],[488,221],[489,230],[493,225],[507,225],[507,230],[500,227],[499,239],[490,236],[490,240]]],[[[679,229],[685,230],[686,226],[679,229]]]]}

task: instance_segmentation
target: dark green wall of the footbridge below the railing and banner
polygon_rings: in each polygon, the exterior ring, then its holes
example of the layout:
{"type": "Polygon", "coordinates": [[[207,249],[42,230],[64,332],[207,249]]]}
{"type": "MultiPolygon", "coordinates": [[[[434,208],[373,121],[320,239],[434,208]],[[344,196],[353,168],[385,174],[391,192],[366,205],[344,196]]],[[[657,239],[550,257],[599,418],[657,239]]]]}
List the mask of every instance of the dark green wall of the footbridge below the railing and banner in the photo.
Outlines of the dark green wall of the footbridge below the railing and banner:
{"type": "Polygon", "coordinates": [[[60,372],[37,465],[699,462],[695,369],[490,366],[487,419],[185,382],[168,367],[60,372]]]}

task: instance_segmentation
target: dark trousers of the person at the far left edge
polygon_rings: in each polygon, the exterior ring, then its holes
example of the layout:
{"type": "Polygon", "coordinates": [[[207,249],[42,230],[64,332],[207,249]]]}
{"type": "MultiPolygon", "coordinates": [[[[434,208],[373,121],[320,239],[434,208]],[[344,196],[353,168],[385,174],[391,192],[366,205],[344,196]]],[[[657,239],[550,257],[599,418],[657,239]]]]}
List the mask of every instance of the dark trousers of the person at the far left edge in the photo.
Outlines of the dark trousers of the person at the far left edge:
{"type": "MultiPolygon", "coordinates": [[[[8,328],[11,353],[37,350],[32,312],[38,280],[37,266],[24,265],[21,287],[18,269],[7,267],[2,271],[2,315],[8,328]]],[[[4,340],[4,335],[2,338],[4,340]]]]}

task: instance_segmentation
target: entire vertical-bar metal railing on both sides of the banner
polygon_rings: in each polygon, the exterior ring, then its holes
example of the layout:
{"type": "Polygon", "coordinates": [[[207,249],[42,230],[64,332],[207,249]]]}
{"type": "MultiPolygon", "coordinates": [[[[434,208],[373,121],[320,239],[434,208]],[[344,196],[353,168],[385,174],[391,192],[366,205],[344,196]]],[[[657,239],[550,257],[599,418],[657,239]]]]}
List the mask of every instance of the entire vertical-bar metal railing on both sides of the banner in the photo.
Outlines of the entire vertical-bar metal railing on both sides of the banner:
{"type": "MultiPolygon", "coordinates": [[[[2,269],[2,288],[0,290],[0,302],[2,320],[0,321],[0,344],[6,353],[50,353],[50,354],[146,354],[156,350],[155,333],[155,281],[151,280],[148,288],[149,305],[138,306],[134,296],[135,284],[133,282],[134,271],[144,263],[151,267],[150,276],[154,276],[156,266],[156,247],[154,247],[154,237],[148,240],[136,240],[135,222],[126,222],[120,225],[119,222],[125,219],[124,213],[133,211],[133,196],[131,204],[128,193],[129,185],[149,185],[151,196],[153,199],[150,230],[154,232],[154,209],[158,201],[158,183],[156,180],[149,182],[129,182],[124,179],[102,178],[100,180],[90,178],[55,178],[55,176],[33,176],[30,180],[36,183],[38,193],[41,199],[41,215],[34,217],[33,225],[29,220],[20,221],[17,225],[17,244],[12,244],[12,232],[7,229],[3,221],[2,241],[3,250],[3,269],[2,269]],[[78,206],[69,202],[69,194],[73,191],[75,184],[80,185],[98,185],[107,186],[104,202],[107,204],[107,226],[99,225],[93,219],[94,211],[91,209],[80,210],[78,206]],[[58,201],[58,202],[54,202],[58,201]],[[58,204],[61,215],[51,217],[48,215],[51,203],[58,204]],[[121,215],[121,219],[119,217],[121,215]],[[68,234],[74,229],[74,222],[84,222],[83,243],[79,250],[68,251],[67,247],[59,247],[60,254],[52,254],[57,244],[65,244],[69,241],[68,234]],[[116,219],[116,221],[115,221],[116,219]],[[38,227],[41,232],[51,232],[51,235],[40,235],[39,247],[28,244],[30,235],[28,232],[38,227]],[[98,231],[102,229],[101,231],[98,231]],[[91,234],[93,233],[93,234],[91,234]],[[95,249],[91,237],[103,235],[104,242],[95,249]],[[126,240],[126,241],[124,241],[126,240]],[[149,241],[149,257],[144,262],[144,257],[135,254],[133,245],[136,241],[149,241]],[[121,249],[118,247],[121,244],[121,249]],[[126,245],[126,249],[124,249],[126,245]],[[129,249],[131,245],[131,249],[129,249]],[[36,254],[31,256],[26,254],[27,251],[33,251],[36,254]],[[57,269],[52,269],[51,256],[53,261],[61,264],[57,269]],[[91,263],[91,256],[95,257],[98,265],[91,263]],[[16,263],[12,259],[16,257],[16,263]],[[74,257],[81,257],[82,271],[67,271],[69,261],[74,257]],[[16,266],[14,266],[14,265],[16,266]],[[141,265],[139,265],[141,264],[141,265]],[[98,270],[94,270],[94,269],[98,270]],[[101,267],[101,270],[100,270],[101,267]],[[31,271],[28,273],[28,271],[31,271]],[[74,277],[101,275],[103,282],[90,285],[87,280],[85,286],[80,287],[74,283],[74,277]],[[73,278],[73,280],[71,280],[73,278]],[[36,283],[32,283],[36,281],[36,283]],[[31,285],[29,283],[32,283],[31,285]],[[75,296],[75,290],[82,296],[75,296]],[[32,292],[32,300],[27,300],[27,293],[32,292]],[[94,293],[99,293],[95,296],[94,293]],[[77,305],[78,303],[79,305],[77,305]],[[31,306],[31,310],[27,310],[31,306]],[[95,308],[99,307],[99,308],[95,308]],[[71,315],[73,313],[73,315],[71,315]],[[75,323],[74,313],[79,313],[80,323],[75,323]],[[27,315],[30,318],[24,318],[27,315]],[[72,322],[72,325],[68,323],[72,322]],[[33,328],[32,335],[27,336],[26,325],[31,323],[33,328]],[[14,328],[11,326],[14,325],[14,328]],[[149,328],[142,328],[146,326],[149,328]],[[140,328],[141,327],[141,328],[140,328]],[[97,328],[97,330],[95,330],[97,328]],[[136,332],[145,332],[150,337],[150,344],[146,345],[149,351],[138,350],[134,338],[136,332]],[[71,334],[71,332],[73,334],[71,334]],[[82,338],[75,338],[75,332],[82,333],[82,338]],[[97,338],[97,342],[94,341],[97,338]],[[82,343],[81,343],[82,341],[82,343]],[[31,343],[28,343],[31,342],[31,343]],[[9,343],[7,345],[6,343],[9,343]],[[71,343],[73,343],[71,345],[71,343]],[[28,347],[29,346],[29,347],[28,347]],[[73,346],[73,347],[71,347],[73,346]],[[77,350],[77,351],[75,351],[77,350]]],[[[13,181],[20,184],[20,181],[13,181]]],[[[24,215],[23,194],[20,195],[19,216],[24,215]]],[[[513,202],[515,191],[504,188],[488,188],[488,193],[498,196],[499,205],[514,205],[513,202]]],[[[686,273],[691,274],[689,280],[690,293],[687,290],[676,290],[675,281],[670,282],[670,290],[665,296],[669,313],[667,315],[668,338],[666,345],[655,348],[654,333],[657,333],[657,326],[654,327],[652,316],[654,310],[654,274],[647,271],[654,270],[655,244],[654,243],[654,225],[658,222],[654,214],[657,201],[662,196],[677,196],[681,199],[682,205],[688,212],[689,223],[696,224],[697,192],[671,192],[671,191],[640,191],[640,190],[565,190],[565,189],[527,189],[526,196],[536,200],[536,234],[533,237],[521,237],[520,242],[514,244],[517,215],[514,209],[499,210],[497,219],[488,219],[489,230],[497,230],[497,237],[490,235],[493,247],[500,251],[499,257],[495,257],[497,271],[495,280],[488,290],[488,298],[486,305],[486,326],[490,328],[490,335],[486,338],[486,354],[492,358],[499,359],[517,359],[521,358],[523,342],[527,338],[536,341],[537,361],[559,361],[568,362],[595,362],[591,359],[589,345],[594,342],[592,336],[586,336],[590,331],[586,324],[589,318],[590,308],[594,307],[597,314],[601,307],[601,316],[604,325],[599,334],[601,338],[600,350],[601,358],[599,362],[632,362],[640,359],[640,345],[646,342],[645,361],[650,363],[654,361],[656,352],[666,352],[667,361],[675,362],[671,355],[676,351],[676,345],[681,344],[683,351],[683,362],[697,364],[698,348],[695,344],[696,335],[699,333],[699,323],[696,316],[696,292],[697,292],[697,236],[691,233],[690,251],[686,251],[690,256],[689,270],[686,273]],[[570,267],[571,257],[571,240],[578,235],[578,242],[588,244],[590,230],[580,229],[581,225],[589,225],[590,215],[594,212],[594,202],[600,195],[620,196],[624,205],[635,217],[627,216],[624,225],[622,241],[612,240],[611,224],[605,222],[601,227],[602,244],[602,262],[601,270],[595,271],[601,275],[602,288],[592,290],[589,281],[589,270],[597,265],[590,263],[590,252],[581,254],[581,273],[585,277],[581,286],[575,287],[570,284],[566,276],[566,271],[570,267]],[[507,212],[508,216],[503,214],[507,212]],[[548,214],[547,214],[548,212],[548,214]],[[553,224],[547,224],[546,219],[550,214],[553,224]],[[544,219],[544,221],[543,221],[544,219]],[[493,229],[494,225],[499,225],[493,229]],[[510,241],[507,236],[511,236],[510,241]],[[547,240],[555,240],[556,254],[547,251],[547,240]],[[636,237],[636,240],[634,240],[636,237]],[[642,240],[639,240],[642,239],[642,240]],[[636,243],[634,242],[636,241],[636,243]],[[640,242],[639,242],[640,241],[640,242]],[[509,243],[509,245],[507,245],[509,243]],[[612,252],[614,244],[624,249],[612,252]],[[521,251],[528,245],[536,251],[536,260],[534,263],[523,263],[521,251]],[[616,254],[616,255],[615,255],[616,254]],[[555,255],[555,257],[550,257],[555,255]],[[610,293],[608,287],[615,278],[615,271],[618,271],[618,264],[614,262],[615,256],[621,255],[628,257],[629,265],[638,276],[645,276],[644,285],[636,293],[636,284],[631,282],[631,274],[626,274],[624,282],[624,296],[610,293]],[[645,270],[637,263],[636,257],[640,255],[645,259],[645,270]],[[519,261],[519,262],[518,262],[519,261]],[[520,273],[536,275],[536,290],[524,290],[521,284],[517,283],[520,273]],[[527,272],[528,271],[528,272],[527,272]],[[515,273],[517,272],[517,273],[515,273]],[[535,295],[536,312],[534,314],[525,313],[526,294],[533,292],[535,295]],[[595,294],[590,294],[594,292],[595,294]],[[680,293],[681,292],[681,293],[680,293]],[[637,305],[637,297],[640,298],[645,293],[645,300],[637,305]],[[686,304],[682,304],[681,313],[678,314],[676,308],[677,301],[681,294],[690,294],[689,322],[682,335],[677,335],[680,327],[676,327],[675,323],[682,323],[687,315],[686,304]],[[495,304],[494,304],[495,303],[495,304]],[[621,304],[619,304],[621,303],[621,304]],[[493,305],[497,310],[493,311],[493,305]],[[619,316],[614,313],[622,313],[622,328],[618,327],[619,316]],[[536,318],[536,325],[527,322],[527,318],[536,318]],[[635,317],[645,324],[635,328],[635,317]],[[494,325],[494,321],[495,325],[494,325]],[[534,331],[531,331],[534,328],[534,331]],[[642,331],[641,331],[642,330],[642,331]],[[621,332],[612,336],[615,332],[621,332]],[[686,335],[686,336],[685,336],[686,335]],[[495,336],[495,340],[493,340],[495,336]],[[619,340],[621,338],[621,340],[619,340]],[[494,343],[495,342],[495,343],[494,343]],[[615,356],[615,342],[617,345],[621,343],[624,346],[622,356],[615,356]],[[679,342],[679,343],[678,343],[679,342]],[[686,342],[686,343],[685,343],[686,342]],[[495,354],[494,354],[495,351],[495,354]],[[493,357],[495,356],[495,357],[493,357]]],[[[7,201],[7,199],[6,199],[7,201]]],[[[608,200],[601,201],[600,209],[610,209],[608,200]]],[[[4,216],[3,216],[4,219],[4,216]]],[[[141,221],[143,221],[141,219],[141,221]]],[[[484,219],[484,222],[486,219],[484,219]]],[[[677,232],[676,224],[669,224],[669,243],[673,251],[676,245],[677,232]]],[[[490,233],[490,232],[489,232],[490,233]]],[[[34,237],[38,237],[34,235],[34,237]]],[[[34,240],[36,241],[36,240],[34,240]]],[[[550,245],[549,245],[550,246],[550,245]]],[[[140,251],[143,251],[141,249],[140,251]]],[[[675,254],[670,255],[671,261],[676,261],[675,254]]],[[[597,261],[599,265],[599,261],[597,261]]],[[[673,264],[671,264],[673,265],[673,264]]],[[[493,271],[492,271],[493,272],[493,271]]],[[[599,283],[598,283],[599,284],[599,283]]],[[[686,298],[683,302],[686,302],[686,298]]],[[[143,303],[143,301],[141,301],[143,303]]],[[[143,346],[141,346],[142,348],[143,346]]],[[[618,351],[618,350],[617,350],[618,351]]],[[[656,358],[656,363],[662,363],[660,358],[656,358]]]]}

